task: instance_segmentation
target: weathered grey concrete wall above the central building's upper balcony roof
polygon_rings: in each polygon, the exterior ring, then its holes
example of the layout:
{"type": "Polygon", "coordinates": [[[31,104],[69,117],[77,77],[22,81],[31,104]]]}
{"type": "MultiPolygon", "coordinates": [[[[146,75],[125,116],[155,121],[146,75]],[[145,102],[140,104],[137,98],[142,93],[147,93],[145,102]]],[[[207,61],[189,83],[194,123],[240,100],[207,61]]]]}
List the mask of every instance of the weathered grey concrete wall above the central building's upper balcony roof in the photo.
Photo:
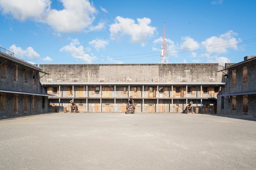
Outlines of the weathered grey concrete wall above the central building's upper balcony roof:
{"type": "Polygon", "coordinates": [[[39,65],[42,82],[221,82],[218,64],[39,65]]]}

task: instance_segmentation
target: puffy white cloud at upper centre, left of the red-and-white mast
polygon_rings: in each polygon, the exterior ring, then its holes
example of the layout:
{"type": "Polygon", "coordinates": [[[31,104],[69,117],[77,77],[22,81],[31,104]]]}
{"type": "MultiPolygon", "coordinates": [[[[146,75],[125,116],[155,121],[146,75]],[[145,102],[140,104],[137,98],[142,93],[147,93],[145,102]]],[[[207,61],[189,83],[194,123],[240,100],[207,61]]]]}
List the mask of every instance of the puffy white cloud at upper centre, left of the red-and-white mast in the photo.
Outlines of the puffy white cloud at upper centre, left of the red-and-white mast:
{"type": "Polygon", "coordinates": [[[111,38],[115,40],[128,35],[131,42],[144,45],[147,39],[155,34],[157,28],[149,25],[151,19],[147,17],[137,18],[137,22],[131,18],[116,17],[115,23],[111,24],[109,29],[111,38]]]}

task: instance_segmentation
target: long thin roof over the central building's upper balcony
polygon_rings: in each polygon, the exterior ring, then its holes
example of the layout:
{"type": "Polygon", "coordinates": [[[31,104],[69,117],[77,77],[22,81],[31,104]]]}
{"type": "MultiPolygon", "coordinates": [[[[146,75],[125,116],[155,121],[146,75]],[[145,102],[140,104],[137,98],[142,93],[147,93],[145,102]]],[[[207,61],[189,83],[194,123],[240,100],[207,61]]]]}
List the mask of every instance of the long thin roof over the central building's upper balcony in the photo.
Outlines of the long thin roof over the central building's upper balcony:
{"type": "Polygon", "coordinates": [[[225,85],[222,82],[40,82],[42,85],[225,85]]]}

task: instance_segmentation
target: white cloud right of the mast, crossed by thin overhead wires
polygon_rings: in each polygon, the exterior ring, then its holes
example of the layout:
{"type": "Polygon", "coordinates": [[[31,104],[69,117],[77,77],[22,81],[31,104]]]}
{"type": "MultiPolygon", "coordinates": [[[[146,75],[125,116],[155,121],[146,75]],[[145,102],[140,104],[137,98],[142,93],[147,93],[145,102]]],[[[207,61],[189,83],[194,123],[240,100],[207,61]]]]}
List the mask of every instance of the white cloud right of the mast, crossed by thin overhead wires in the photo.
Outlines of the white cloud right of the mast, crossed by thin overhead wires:
{"type": "Polygon", "coordinates": [[[205,46],[206,51],[209,53],[225,53],[227,52],[227,49],[237,49],[239,39],[237,40],[235,38],[236,35],[237,33],[229,30],[225,34],[221,34],[218,37],[212,36],[207,38],[205,41],[202,41],[201,44],[205,46]]]}

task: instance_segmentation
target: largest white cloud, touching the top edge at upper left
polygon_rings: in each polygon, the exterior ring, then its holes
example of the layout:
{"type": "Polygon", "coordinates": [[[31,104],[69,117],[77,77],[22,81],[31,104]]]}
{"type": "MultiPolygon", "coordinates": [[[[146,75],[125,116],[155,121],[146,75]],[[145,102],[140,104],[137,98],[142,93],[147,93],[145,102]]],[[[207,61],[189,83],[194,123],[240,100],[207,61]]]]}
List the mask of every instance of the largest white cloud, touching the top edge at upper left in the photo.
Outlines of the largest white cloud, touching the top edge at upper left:
{"type": "Polygon", "coordinates": [[[51,0],[0,0],[3,14],[24,21],[46,23],[57,32],[79,32],[89,27],[97,10],[89,0],[60,0],[62,10],[51,9],[51,0]]]}

